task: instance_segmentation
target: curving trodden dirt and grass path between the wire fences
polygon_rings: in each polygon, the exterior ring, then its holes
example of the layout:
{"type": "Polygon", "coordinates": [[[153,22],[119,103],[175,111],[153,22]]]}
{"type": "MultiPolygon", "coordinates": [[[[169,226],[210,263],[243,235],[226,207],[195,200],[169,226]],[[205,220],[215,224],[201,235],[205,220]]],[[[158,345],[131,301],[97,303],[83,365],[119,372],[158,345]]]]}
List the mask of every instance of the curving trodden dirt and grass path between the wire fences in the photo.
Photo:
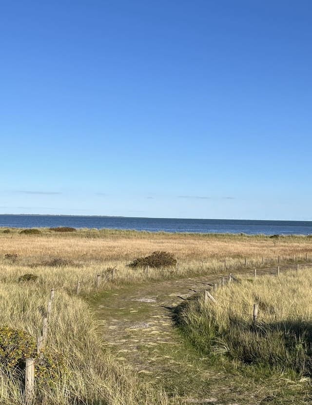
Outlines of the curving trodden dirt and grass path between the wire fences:
{"type": "MultiPolygon", "coordinates": [[[[281,271],[295,266],[281,266],[281,271]]],[[[253,270],[241,269],[241,273],[253,270]]],[[[276,273],[276,266],[257,271],[258,275],[276,273]]],[[[239,271],[235,271],[239,274],[239,271]]],[[[220,381],[226,371],[215,375],[206,359],[199,359],[174,327],[172,309],[195,291],[210,289],[220,277],[205,275],[147,282],[139,286],[104,292],[94,303],[102,322],[105,344],[126,367],[135,369],[153,386],[161,385],[172,398],[172,404],[237,404],[237,396],[220,400],[220,381]]],[[[230,386],[224,388],[231,391],[230,386]]],[[[256,404],[249,398],[249,404],[256,404]]],[[[245,402],[239,402],[245,404],[245,402]]]]}

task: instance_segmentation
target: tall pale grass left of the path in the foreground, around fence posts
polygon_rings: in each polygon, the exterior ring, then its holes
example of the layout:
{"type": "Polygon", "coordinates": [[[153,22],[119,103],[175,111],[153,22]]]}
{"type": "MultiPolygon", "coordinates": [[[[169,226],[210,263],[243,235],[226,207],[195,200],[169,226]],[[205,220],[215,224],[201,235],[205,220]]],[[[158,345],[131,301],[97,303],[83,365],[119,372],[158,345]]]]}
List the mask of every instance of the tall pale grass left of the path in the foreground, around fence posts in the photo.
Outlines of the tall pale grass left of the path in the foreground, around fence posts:
{"type": "MultiPolygon", "coordinates": [[[[0,283],[0,324],[22,329],[36,338],[46,311],[49,290],[36,283],[0,283]]],[[[62,290],[56,291],[49,318],[44,356],[61,357],[53,379],[36,379],[38,404],[121,405],[166,404],[161,393],[151,395],[104,352],[98,324],[87,304],[62,290]]],[[[23,373],[7,374],[0,367],[0,402],[23,404],[23,373]]]]}

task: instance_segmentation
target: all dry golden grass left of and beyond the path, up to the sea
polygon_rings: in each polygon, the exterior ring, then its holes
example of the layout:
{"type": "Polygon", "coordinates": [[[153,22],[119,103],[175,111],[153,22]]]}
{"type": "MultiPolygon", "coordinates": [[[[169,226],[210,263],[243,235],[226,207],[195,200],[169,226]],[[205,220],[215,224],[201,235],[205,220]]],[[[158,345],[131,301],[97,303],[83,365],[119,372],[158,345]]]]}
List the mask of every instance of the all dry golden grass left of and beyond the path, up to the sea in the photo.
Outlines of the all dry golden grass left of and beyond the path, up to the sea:
{"type": "MultiPolygon", "coordinates": [[[[95,333],[97,323],[86,303],[75,296],[77,280],[81,293],[96,291],[96,275],[102,274],[101,288],[108,289],[145,279],[213,273],[227,266],[241,266],[248,257],[250,266],[259,264],[262,256],[268,261],[277,255],[304,256],[312,251],[312,239],[287,237],[277,240],[264,236],[166,234],[81,230],[56,234],[40,230],[39,235],[20,234],[20,230],[0,230],[0,323],[39,333],[42,308],[46,308],[49,291],[56,289],[56,301],[50,321],[48,345],[62,352],[70,373],[59,379],[51,390],[44,391],[46,404],[166,404],[161,392],[147,391],[135,377],[130,377],[103,354],[95,333]],[[126,265],[137,256],[153,251],[169,251],[179,261],[179,270],[131,269],[126,265]],[[5,258],[5,254],[17,258],[5,258]],[[60,266],[48,262],[60,258],[60,266]],[[68,261],[68,265],[65,265],[68,261]],[[106,274],[107,267],[116,267],[115,278],[106,274]],[[21,275],[34,273],[36,282],[18,282],[21,275]],[[66,395],[64,395],[66,393],[66,395]],[[70,393],[70,395],[67,395],[70,393]]],[[[18,383],[0,373],[0,402],[22,404],[18,383]]]]}

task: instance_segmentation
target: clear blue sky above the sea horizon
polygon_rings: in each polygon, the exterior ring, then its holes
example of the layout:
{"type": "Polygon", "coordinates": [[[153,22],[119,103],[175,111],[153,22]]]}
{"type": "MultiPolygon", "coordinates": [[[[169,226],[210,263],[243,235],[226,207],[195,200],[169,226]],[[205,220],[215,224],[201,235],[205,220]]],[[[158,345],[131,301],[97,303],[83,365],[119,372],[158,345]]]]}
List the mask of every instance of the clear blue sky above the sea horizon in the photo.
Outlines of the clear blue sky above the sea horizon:
{"type": "Polygon", "coordinates": [[[311,1],[0,2],[0,213],[312,220],[311,1]]]}

